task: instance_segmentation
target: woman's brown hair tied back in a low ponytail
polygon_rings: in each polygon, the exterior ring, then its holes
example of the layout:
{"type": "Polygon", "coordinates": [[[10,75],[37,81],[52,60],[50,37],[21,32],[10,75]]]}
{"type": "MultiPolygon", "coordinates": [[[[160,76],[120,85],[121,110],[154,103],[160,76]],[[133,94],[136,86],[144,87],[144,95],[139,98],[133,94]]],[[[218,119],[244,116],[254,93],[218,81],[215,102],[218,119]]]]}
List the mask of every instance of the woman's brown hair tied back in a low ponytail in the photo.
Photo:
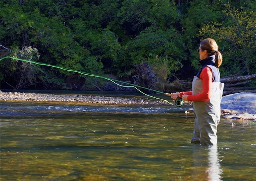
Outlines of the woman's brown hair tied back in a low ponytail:
{"type": "Polygon", "coordinates": [[[222,64],[222,54],[218,50],[219,46],[212,38],[206,38],[200,43],[200,48],[206,50],[209,56],[215,55],[215,65],[218,68],[222,64]]]}

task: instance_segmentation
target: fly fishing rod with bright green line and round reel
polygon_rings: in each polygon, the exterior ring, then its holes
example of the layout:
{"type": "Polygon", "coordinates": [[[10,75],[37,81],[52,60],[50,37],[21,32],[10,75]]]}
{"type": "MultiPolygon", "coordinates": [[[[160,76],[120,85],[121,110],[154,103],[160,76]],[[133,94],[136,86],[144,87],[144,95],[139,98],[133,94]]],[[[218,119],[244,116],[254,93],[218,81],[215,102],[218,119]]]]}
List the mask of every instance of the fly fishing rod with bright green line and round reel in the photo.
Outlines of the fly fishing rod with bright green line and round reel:
{"type": "Polygon", "coordinates": [[[53,68],[58,68],[58,69],[61,69],[61,70],[66,70],[66,71],[69,71],[69,72],[76,72],[76,73],[79,73],[79,74],[82,74],[82,75],[85,75],[85,76],[93,76],[93,77],[97,77],[97,78],[103,78],[105,80],[108,80],[108,81],[111,81],[113,82],[114,84],[118,85],[118,86],[121,86],[121,87],[126,87],[126,88],[135,88],[136,90],[138,90],[140,93],[148,96],[148,97],[152,97],[154,99],[158,99],[158,100],[162,100],[166,103],[169,103],[171,105],[175,105],[175,106],[182,106],[183,105],[183,100],[181,97],[178,97],[178,99],[175,100],[175,103],[170,103],[169,101],[165,100],[165,99],[161,99],[159,97],[154,97],[152,95],[148,95],[144,92],[142,92],[141,90],[139,90],[138,88],[143,88],[143,89],[146,89],[146,90],[150,90],[150,91],[154,91],[154,92],[157,92],[157,93],[162,93],[162,94],[165,94],[165,95],[168,95],[170,96],[170,93],[164,93],[162,91],[158,91],[158,90],[153,90],[153,89],[149,89],[149,88],[144,88],[142,86],[138,86],[138,85],[134,85],[134,84],[130,84],[130,83],[127,83],[127,82],[122,82],[120,80],[115,80],[115,79],[112,79],[112,78],[107,78],[107,77],[104,77],[104,76],[98,76],[98,75],[95,75],[95,74],[90,74],[90,73],[86,73],[86,72],[81,72],[81,71],[78,71],[78,70],[72,70],[72,69],[69,69],[69,68],[64,68],[64,67],[60,67],[60,66],[54,66],[54,65],[50,65],[50,64],[45,64],[45,63],[40,63],[40,62],[35,62],[35,61],[31,61],[31,60],[24,60],[24,59],[20,59],[20,58],[15,58],[15,57],[10,57],[10,56],[6,56],[4,58],[1,58],[0,59],[0,62],[6,58],[10,58],[10,59],[13,59],[13,60],[19,60],[19,61],[22,61],[22,62],[29,62],[29,63],[32,63],[32,64],[37,64],[37,65],[42,65],[42,66],[49,66],[49,67],[53,67],[53,68]],[[116,82],[120,82],[120,83],[124,83],[124,84],[128,84],[129,86],[124,86],[124,85],[121,85],[121,84],[118,84],[116,82]],[[138,88],[137,88],[138,87],[138,88]]]}

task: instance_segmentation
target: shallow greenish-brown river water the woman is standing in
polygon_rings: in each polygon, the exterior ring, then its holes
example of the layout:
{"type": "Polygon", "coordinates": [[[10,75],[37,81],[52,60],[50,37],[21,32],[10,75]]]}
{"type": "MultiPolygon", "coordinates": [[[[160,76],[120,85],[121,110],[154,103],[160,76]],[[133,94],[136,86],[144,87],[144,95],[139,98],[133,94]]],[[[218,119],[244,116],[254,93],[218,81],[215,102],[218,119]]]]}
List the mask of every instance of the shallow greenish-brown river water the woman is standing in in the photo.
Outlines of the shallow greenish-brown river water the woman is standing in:
{"type": "Polygon", "coordinates": [[[253,181],[256,126],[190,143],[191,107],[1,102],[1,181],[253,181]]]}

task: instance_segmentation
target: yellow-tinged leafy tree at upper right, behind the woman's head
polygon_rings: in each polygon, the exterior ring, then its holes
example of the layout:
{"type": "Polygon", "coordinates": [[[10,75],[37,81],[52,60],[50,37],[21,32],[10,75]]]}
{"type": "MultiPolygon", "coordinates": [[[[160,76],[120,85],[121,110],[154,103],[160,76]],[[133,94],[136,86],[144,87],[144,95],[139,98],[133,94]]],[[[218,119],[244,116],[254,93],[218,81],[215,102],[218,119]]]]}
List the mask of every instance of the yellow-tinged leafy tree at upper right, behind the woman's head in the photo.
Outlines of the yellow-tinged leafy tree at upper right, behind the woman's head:
{"type": "MultiPolygon", "coordinates": [[[[244,5],[252,2],[244,2],[244,5]]],[[[256,72],[256,12],[254,6],[244,10],[235,8],[229,2],[224,4],[226,20],[204,24],[200,35],[211,36],[220,42],[220,50],[224,56],[222,72],[224,75],[249,75],[256,72]]]]}

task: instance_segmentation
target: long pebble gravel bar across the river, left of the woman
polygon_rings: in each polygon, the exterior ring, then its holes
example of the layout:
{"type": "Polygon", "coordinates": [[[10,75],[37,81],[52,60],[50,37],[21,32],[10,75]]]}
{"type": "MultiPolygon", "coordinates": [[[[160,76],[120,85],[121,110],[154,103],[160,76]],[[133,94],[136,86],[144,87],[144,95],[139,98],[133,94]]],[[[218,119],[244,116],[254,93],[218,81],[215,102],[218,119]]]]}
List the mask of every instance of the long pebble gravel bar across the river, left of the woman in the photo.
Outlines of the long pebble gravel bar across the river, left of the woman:
{"type": "MultiPolygon", "coordinates": [[[[123,97],[105,97],[92,95],[57,95],[49,93],[23,93],[0,91],[1,101],[47,101],[69,103],[100,103],[100,104],[136,104],[136,105],[170,105],[168,102],[158,99],[136,99],[123,97]]],[[[168,100],[170,101],[170,100],[168,100]]],[[[170,101],[174,103],[174,101],[170,101]]],[[[189,105],[191,103],[184,103],[189,105]]]]}

